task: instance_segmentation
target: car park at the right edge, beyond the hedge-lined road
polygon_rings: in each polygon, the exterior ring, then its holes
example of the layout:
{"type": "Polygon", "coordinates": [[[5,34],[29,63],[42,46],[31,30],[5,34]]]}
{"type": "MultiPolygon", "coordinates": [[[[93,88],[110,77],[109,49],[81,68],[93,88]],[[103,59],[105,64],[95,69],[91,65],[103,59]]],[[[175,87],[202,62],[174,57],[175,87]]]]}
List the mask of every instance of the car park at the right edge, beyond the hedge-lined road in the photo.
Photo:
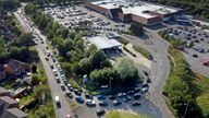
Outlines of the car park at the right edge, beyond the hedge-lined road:
{"type": "Polygon", "coordinates": [[[174,25],[165,30],[171,37],[185,42],[182,52],[192,69],[209,76],[209,32],[193,26],[174,25]]]}

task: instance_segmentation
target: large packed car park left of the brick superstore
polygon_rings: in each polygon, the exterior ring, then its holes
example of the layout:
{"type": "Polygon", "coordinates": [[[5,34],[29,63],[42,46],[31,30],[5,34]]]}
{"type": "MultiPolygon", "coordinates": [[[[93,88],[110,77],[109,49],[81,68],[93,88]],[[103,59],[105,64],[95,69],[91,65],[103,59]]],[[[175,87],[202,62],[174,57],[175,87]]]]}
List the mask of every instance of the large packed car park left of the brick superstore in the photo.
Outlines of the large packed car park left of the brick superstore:
{"type": "Polygon", "coordinates": [[[70,30],[75,30],[85,24],[85,26],[87,25],[94,31],[125,32],[130,26],[128,24],[113,22],[104,15],[88,10],[83,5],[45,8],[45,13],[50,14],[54,21],[70,30]]]}

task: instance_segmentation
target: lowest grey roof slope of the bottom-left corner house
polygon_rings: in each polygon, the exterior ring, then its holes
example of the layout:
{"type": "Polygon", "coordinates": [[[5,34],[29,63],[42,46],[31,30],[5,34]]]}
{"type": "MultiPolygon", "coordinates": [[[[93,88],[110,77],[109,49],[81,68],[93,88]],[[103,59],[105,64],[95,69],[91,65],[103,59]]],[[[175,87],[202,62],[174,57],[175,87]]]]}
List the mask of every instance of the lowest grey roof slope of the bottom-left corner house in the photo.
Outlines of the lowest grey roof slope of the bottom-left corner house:
{"type": "Polygon", "coordinates": [[[20,110],[19,108],[9,108],[7,109],[8,113],[10,113],[13,116],[16,116],[17,118],[25,118],[27,117],[27,114],[24,111],[20,110]]]}

